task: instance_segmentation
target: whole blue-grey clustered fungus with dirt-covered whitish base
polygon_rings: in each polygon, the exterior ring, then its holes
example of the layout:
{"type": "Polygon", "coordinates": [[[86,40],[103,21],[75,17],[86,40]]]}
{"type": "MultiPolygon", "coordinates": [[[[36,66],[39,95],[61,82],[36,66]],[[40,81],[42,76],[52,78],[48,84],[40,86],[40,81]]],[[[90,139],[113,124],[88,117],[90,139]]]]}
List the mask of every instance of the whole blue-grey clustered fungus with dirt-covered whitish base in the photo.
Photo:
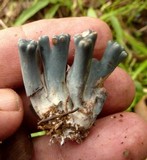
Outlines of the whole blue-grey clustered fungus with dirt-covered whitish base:
{"type": "Polygon", "coordinates": [[[106,99],[103,82],[127,56],[118,43],[109,41],[102,59],[92,58],[96,38],[91,30],[75,35],[75,57],[69,70],[70,35],[54,36],[52,47],[47,36],[18,43],[27,96],[40,118],[38,128],[50,135],[51,142],[80,143],[88,135],[106,99]]]}

